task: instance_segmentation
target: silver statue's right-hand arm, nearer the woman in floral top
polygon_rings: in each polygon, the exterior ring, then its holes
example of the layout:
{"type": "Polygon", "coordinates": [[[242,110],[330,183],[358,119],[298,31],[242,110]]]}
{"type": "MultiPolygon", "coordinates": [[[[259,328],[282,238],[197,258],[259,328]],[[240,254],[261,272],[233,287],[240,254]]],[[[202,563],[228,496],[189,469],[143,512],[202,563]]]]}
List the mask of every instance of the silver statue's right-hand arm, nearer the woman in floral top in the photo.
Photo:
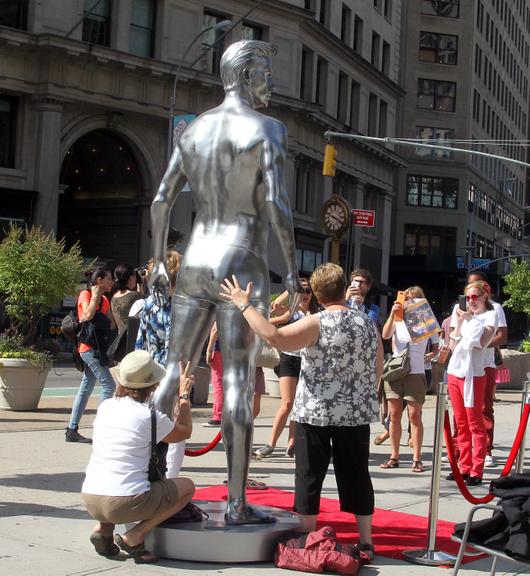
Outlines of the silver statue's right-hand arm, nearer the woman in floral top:
{"type": "MultiPolygon", "coordinates": [[[[287,264],[285,287],[291,295],[301,293],[298,279],[293,218],[289,206],[289,196],[285,187],[285,154],[287,133],[283,124],[274,126],[273,134],[263,143],[261,169],[267,199],[269,221],[278,238],[287,264]]],[[[297,298],[292,298],[291,306],[296,307],[297,298]]]]}

